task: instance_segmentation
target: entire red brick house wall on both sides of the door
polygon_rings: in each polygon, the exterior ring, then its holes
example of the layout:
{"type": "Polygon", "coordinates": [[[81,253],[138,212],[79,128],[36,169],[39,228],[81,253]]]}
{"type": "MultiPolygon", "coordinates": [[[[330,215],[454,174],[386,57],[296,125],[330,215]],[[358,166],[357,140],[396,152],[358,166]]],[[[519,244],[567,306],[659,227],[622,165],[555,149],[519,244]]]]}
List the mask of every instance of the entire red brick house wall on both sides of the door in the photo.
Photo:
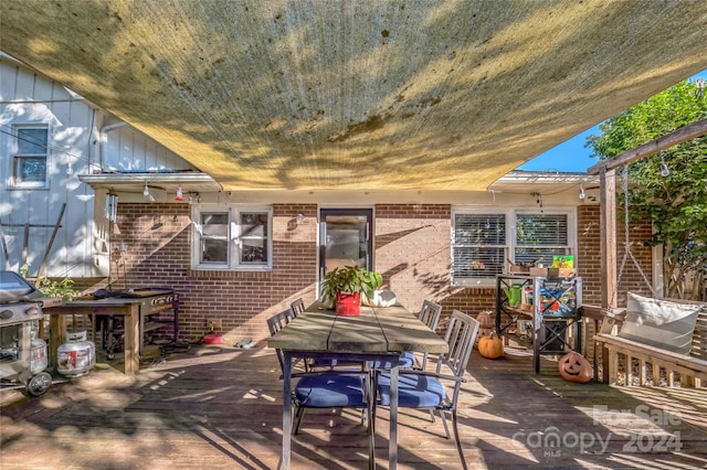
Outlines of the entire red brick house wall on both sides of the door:
{"type": "MultiPolygon", "coordinates": [[[[454,288],[450,279],[451,206],[449,204],[379,204],[376,206],[376,269],[398,299],[415,311],[424,299],[442,303],[443,318],[453,309],[479,313],[494,309],[495,288],[454,288]]],[[[209,320],[222,320],[224,342],[263,340],[265,319],[302,297],[315,299],[317,280],[317,205],[275,204],[273,209],[273,270],[267,273],[197,271],[190,268],[190,210],[186,204],[118,206],[110,284],[114,289],[171,287],[181,296],[180,331],[198,339],[209,320]],[[305,220],[297,223],[296,214],[305,220]],[[125,242],[127,253],[117,247],[125,242]]],[[[633,252],[650,266],[643,246],[650,225],[632,226],[633,252]]],[[[623,246],[623,235],[618,236],[623,246]]],[[[584,301],[599,303],[599,207],[578,213],[578,269],[584,301]]],[[[619,259],[623,253],[620,253],[619,259]]],[[[650,275],[650,273],[647,273],[650,275]]],[[[635,267],[627,265],[621,290],[646,292],[635,267]]],[[[444,321],[441,322],[441,329],[444,321]]]]}

